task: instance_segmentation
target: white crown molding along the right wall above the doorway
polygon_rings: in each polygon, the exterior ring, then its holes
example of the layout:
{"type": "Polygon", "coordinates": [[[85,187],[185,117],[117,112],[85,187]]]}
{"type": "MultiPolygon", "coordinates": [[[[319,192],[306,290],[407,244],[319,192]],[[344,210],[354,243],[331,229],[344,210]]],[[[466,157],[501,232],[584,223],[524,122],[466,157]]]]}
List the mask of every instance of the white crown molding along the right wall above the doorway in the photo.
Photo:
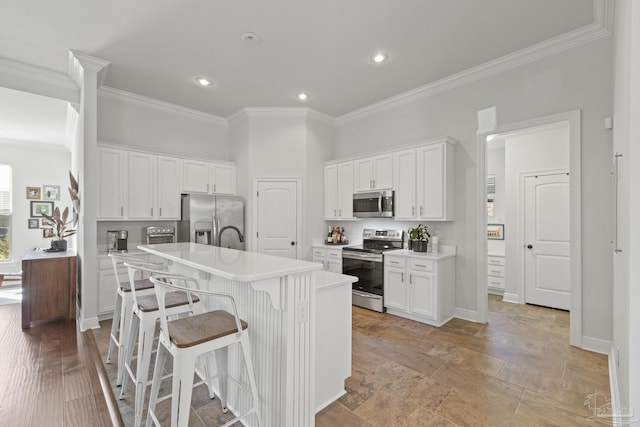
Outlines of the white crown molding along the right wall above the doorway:
{"type": "Polygon", "coordinates": [[[420,99],[517,68],[531,62],[573,49],[612,34],[613,0],[594,0],[594,22],[560,36],[545,40],[484,64],[452,74],[435,82],[392,96],[380,102],[343,114],[335,119],[336,126],[379,114],[420,99]]]}

